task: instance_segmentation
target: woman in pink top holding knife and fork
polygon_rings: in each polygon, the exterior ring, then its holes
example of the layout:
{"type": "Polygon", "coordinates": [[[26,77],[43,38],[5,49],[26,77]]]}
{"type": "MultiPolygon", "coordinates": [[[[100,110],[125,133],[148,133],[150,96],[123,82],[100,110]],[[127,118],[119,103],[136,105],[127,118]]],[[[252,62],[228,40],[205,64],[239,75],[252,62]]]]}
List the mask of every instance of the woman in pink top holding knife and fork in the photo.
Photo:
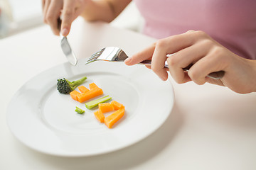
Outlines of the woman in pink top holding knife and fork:
{"type": "MultiPolygon", "coordinates": [[[[131,0],[43,0],[44,21],[59,35],[68,35],[78,16],[111,22],[131,0]]],[[[134,0],[145,19],[144,33],[159,40],[129,57],[127,65],[151,58],[151,69],[164,81],[164,62],[178,83],[218,84],[247,94],[256,91],[256,1],[254,0],[134,0]],[[171,57],[166,57],[168,54],[171,57]],[[193,66],[189,72],[183,68],[193,66]],[[210,72],[223,70],[215,80],[210,72]]]]}

